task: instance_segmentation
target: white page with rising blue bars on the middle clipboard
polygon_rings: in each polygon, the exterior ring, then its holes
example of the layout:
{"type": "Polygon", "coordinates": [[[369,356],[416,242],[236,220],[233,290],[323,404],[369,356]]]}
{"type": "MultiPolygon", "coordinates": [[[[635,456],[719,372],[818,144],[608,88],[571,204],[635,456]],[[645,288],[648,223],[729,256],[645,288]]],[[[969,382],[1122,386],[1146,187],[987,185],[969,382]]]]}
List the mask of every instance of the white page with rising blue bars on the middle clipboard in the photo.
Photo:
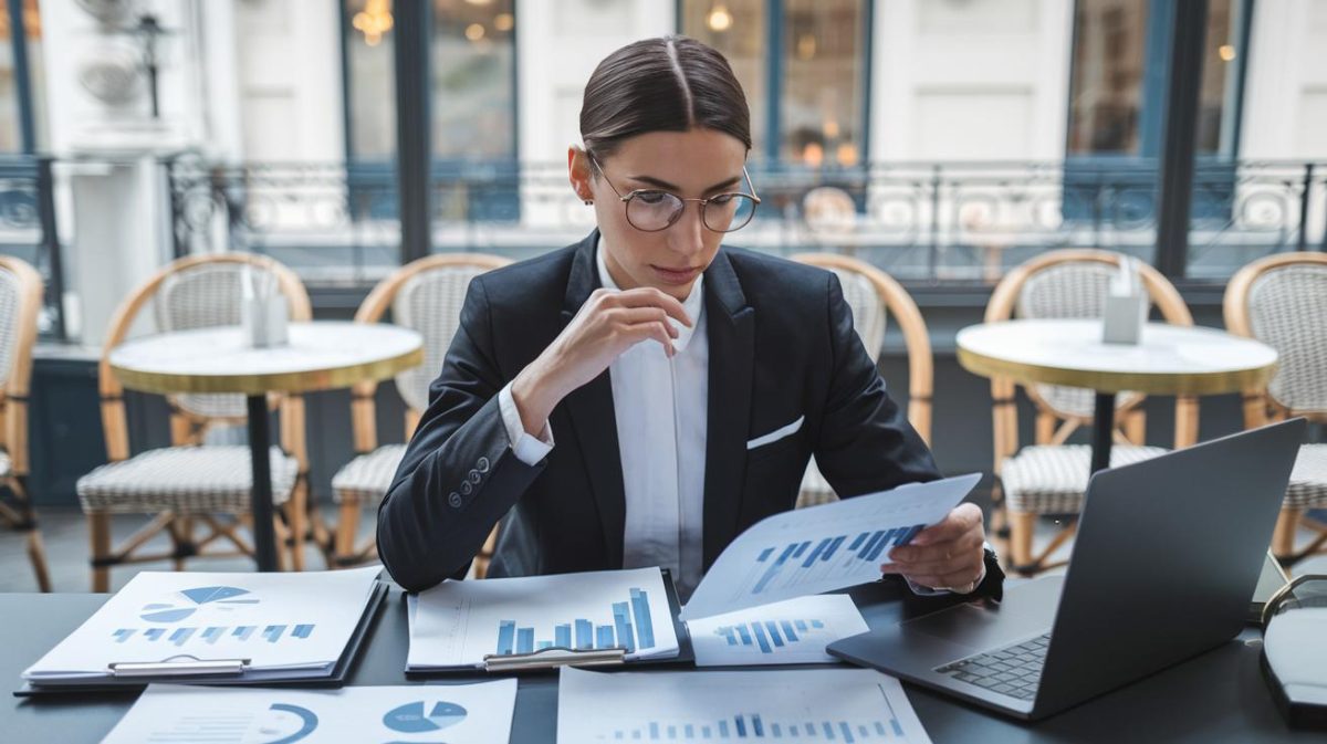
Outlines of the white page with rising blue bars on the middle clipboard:
{"type": "Polygon", "coordinates": [[[486,655],[625,649],[626,659],[678,655],[657,568],[445,581],[410,611],[410,671],[480,667],[486,655]]]}

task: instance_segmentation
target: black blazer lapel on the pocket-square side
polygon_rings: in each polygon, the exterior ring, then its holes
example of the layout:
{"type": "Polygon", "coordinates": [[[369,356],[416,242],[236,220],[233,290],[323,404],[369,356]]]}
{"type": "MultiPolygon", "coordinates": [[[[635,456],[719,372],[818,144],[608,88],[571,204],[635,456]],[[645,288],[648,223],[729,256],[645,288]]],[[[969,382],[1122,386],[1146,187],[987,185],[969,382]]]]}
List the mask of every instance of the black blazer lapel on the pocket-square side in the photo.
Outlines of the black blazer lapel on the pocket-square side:
{"type": "Polygon", "coordinates": [[[709,570],[738,530],[755,363],[755,309],[747,305],[727,252],[722,249],[705,271],[705,312],[710,390],[703,544],[709,570]]]}

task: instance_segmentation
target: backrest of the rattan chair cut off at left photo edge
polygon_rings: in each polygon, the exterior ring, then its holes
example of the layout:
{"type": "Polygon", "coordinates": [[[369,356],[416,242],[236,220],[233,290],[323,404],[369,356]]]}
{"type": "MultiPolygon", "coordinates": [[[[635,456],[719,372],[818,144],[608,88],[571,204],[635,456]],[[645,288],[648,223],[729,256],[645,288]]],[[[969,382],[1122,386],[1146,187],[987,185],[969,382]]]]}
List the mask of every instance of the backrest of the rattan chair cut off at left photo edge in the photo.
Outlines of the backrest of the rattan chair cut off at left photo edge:
{"type": "Polygon", "coordinates": [[[28,475],[28,387],[41,292],[35,268],[0,256],[0,446],[16,476],[28,475]]]}

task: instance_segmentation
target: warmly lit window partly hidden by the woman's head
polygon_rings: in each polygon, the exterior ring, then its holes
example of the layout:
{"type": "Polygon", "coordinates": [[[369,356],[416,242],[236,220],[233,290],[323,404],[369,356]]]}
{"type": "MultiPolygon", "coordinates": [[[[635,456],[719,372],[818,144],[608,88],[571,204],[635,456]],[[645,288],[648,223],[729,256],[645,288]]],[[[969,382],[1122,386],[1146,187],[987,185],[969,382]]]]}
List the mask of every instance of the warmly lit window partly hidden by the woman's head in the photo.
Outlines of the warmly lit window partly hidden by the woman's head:
{"type": "Polygon", "coordinates": [[[755,158],[856,166],[867,156],[865,0],[685,0],[682,32],[733,65],[755,158]]]}

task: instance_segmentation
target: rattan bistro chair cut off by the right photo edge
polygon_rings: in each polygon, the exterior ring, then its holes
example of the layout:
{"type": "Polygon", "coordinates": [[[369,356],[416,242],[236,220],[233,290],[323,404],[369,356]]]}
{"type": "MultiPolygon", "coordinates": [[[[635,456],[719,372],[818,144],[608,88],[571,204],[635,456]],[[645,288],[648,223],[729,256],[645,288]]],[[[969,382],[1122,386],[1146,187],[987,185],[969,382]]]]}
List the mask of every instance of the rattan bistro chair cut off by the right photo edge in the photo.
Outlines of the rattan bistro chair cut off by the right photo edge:
{"type": "MultiPolygon", "coordinates": [[[[1245,391],[1245,426],[1306,416],[1327,423],[1327,255],[1281,253],[1239,269],[1226,286],[1226,328],[1257,338],[1281,355],[1266,389],[1245,391]]],[[[1327,545],[1327,524],[1306,519],[1327,508],[1327,444],[1304,444],[1273,534],[1271,550],[1286,565],[1327,545]],[[1318,530],[1295,549],[1300,524],[1318,530]]]]}

